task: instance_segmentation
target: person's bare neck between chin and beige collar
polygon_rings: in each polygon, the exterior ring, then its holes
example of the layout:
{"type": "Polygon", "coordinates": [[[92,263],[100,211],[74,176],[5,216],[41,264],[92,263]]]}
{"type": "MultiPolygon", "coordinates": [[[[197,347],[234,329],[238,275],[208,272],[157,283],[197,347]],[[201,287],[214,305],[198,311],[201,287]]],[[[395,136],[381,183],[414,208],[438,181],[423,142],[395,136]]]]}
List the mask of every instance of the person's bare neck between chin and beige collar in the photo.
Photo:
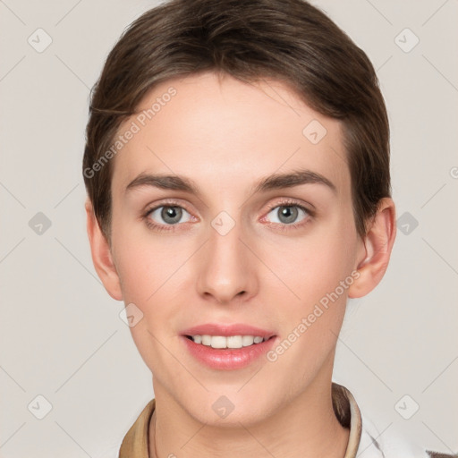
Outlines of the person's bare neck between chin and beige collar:
{"type": "MultiPolygon", "coordinates": [[[[256,424],[219,427],[201,423],[164,386],[155,383],[156,410],[149,425],[149,450],[157,458],[308,458],[344,456],[350,430],[332,406],[331,377],[317,377],[307,389],[270,411],[256,424]]],[[[268,400],[267,400],[268,402],[268,400]]]]}

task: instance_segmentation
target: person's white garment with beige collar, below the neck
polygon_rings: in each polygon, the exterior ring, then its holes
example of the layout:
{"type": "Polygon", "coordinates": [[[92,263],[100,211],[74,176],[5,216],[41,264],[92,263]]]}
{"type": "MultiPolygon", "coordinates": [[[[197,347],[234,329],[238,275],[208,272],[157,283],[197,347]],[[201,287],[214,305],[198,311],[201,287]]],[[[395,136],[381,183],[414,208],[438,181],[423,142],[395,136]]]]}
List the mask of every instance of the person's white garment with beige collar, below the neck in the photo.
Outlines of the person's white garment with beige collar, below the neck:
{"type": "MultiPolygon", "coordinates": [[[[350,436],[344,458],[457,458],[458,455],[439,454],[411,445],[401,437],[380,434],[377,428],[360,412],[350,391],[335,382],[332,384],[332,400],[337,420],[344,428],[350,428],[350,436]]],[[[133,423],[119,449],[117,458],[157,458],[154,450],[148,454],[149,421],[156,407],[152,399],[133,423]]],[[[154,437],[153,437],[154,443],[154,437]]]]}

